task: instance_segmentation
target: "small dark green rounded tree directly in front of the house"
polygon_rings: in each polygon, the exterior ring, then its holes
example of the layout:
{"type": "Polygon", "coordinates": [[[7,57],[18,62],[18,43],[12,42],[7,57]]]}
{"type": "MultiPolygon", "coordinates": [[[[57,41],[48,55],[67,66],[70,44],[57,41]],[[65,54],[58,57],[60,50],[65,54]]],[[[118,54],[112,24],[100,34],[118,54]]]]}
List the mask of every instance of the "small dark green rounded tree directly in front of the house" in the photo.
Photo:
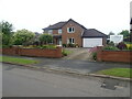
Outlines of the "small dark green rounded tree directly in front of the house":
{"type": "Polygon", "coordinates": [[[50,34],[41,34],[40,35],[40,41],[42,44],[50,44],[53,42],[53,36],[50,34]]]}

